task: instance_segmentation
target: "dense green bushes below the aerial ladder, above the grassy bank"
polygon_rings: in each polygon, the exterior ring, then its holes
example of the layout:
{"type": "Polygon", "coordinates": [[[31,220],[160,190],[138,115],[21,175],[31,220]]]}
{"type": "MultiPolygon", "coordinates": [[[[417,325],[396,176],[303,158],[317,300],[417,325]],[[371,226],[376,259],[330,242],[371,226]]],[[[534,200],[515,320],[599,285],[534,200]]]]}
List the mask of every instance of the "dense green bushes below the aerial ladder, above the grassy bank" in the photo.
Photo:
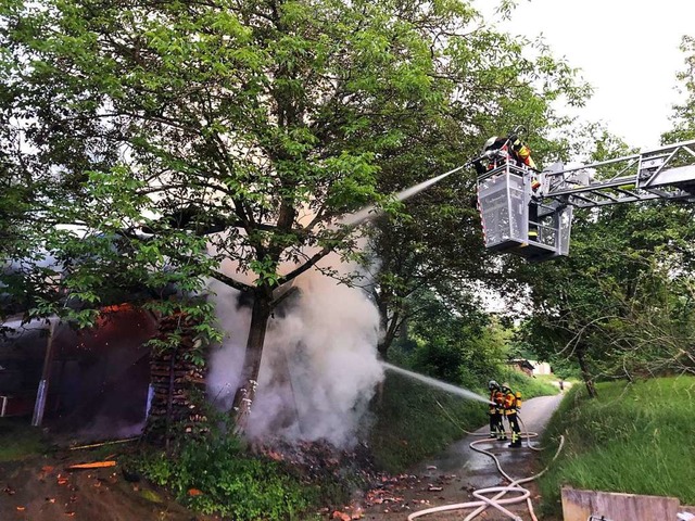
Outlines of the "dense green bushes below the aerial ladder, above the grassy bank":
{"type": "Polygon", "coordinates": [[[583,378],[692,372],[692,208],[617,205],[580,214],[571,255],[529,270],[535,313],[523,339],[583,378]]]}

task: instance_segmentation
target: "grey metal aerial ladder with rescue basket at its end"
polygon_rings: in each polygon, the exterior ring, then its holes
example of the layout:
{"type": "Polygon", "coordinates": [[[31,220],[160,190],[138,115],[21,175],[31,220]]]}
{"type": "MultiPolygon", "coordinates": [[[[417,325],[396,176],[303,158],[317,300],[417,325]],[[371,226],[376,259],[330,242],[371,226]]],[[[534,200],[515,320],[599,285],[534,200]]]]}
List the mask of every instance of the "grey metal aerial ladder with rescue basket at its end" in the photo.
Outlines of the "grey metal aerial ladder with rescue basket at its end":
{"type": "Polygon", "coordinates": [[[531,263],[569,254],[574,208],[653,200],[695,202],[695,140],[541,173],[506,161],[478,176],[485,247],[531,263]]]}

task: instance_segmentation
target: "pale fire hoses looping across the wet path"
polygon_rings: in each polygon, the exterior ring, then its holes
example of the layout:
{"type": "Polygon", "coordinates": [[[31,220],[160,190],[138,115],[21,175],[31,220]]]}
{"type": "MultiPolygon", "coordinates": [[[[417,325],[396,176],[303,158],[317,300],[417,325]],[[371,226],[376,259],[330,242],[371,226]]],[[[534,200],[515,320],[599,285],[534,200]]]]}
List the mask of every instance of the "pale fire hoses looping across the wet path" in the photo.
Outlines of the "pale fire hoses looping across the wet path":
{"type": "MultiPolygon", "coordinates": [[[[441,405],[440,405],[441,406],[441,405]]],[[[521,422],[521,424],[523,425],[523,422],[521,422]]],[[[526,430],[526,425],[525,430],[526,430]]],[[[473,435],[484,435],[484,434],[473,434],[473,435]]],[[[538,433],[535,432],[526,432],[526,436],[521,436],[521,437],[526,437],[527,439],[527,444],[529,445],[529,448],[534,449],[534,450],[540,450],[536,447],[531,447],[529,441],[532,437],[538,436],[538,433]]],[[[452,505],[443,505],[440,507],[432,507],[432,508],[428,508],[425,510],[419,510],[417,512],[413,512],[410,516],[408,516],[408,521],[413,521],[414,519],[424,517],[424,516],[428,516],[428,514],[432,514],[432,513],[438,513],[438,512],[445,512],[445,511],[450,511],[450,510],[462,510],[462,509],[466,509],[466,508],[475,508],[475,510],[472,512],[470,512],[465,519],[464,521],[470,521],[472,519],[475,519],[477,516],[479,516],[482,511],[484,511],[486,508],[489,507],[493,507],[496,508],[497,510],[500,510],[502,513],[504,513],[505,516],[509,517],[510,519],[513,519],[514,521],[522,521],[522,519],[517,516],[516,513],[507,510],[504,505],[513,505],[513,504],[517,504],[517,503],[521,503],[521,501],[526,501],[527,503],[527,507],[529,509],[529,513],[531,514],[531,519],[533,521],[538,521],[538,518],[535,517],[535,513],[533,512],[533,505],[531,504],[531,493],[529,490],[523,488],[522,486],[520,486],[523,483],[528,483],[530,481],[533,481],[538,478],[540,478],[541,475],[543,475],[545,473],[545,471],[548,469],[549,465],[553,463],[553,461],[555,461],[555,459],[557,458],[557,456],[560,454],[560,452],[563,450],[563,446],[565,445],[565,437],[560,436],[560,443],[557,447],[557,450],[555,453],[555,456],[553,456],[553,459],[551,460],[551,462],[548,463],[547,467],[545,467],[545,469],[543,469],[541,472],[539,472],[538,474],[534,474],[530,478],[522,478],[522,479],[518,479],[515,480],[513,478],[510,478],[503,469],[502,466],[500,465],[500,460],[497,459],[497,457],[492,454],[489,450],[482,449],[477,447],[478,444],[481,443],[489,443],[489,440],[478,440],[475,442],[471,442],[469,444],[469,447],[472,450],[476,450],[477,453],[481,453],[484,454],[486,456],[490,456],[494,461],[495,461],[495,466],[497,467],[497,470],[500,471],[500,473],[509,481],[508,485],[505,486],[491,486],[491,487],[486,487],[486,488],[479,488],[477,491],[472,492],[472,496],[477,499],[473,501],[467,501],[467,503],[458,503],[458,504],[452,504],[452,505]],[[494,494],[493,497],[488,497],[491,494],[494,494]],[[505,498],[504,496],[506,496],[507,494],[516,494],[515,497],[507,497],[505,498]]]]}

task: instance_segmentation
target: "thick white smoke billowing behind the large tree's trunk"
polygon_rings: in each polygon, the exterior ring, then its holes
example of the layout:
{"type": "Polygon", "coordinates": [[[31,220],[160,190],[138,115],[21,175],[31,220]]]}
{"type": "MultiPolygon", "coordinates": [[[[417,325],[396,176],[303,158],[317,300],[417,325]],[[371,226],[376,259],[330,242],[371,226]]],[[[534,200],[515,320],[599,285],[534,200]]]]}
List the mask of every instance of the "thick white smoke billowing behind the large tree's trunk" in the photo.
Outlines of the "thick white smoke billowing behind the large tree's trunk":
{"type": "MultiPolygon", "coordinates": [[[[339,264],[332,256],[332,265],[339,264]]],[[[326,259],[326,265],[331,258],[326,259]]],[[[343,268],[345,268],[343,266],[343,268]]],[[[343,270],[344,271],[344,270],[343,270]]],[[[300,276],[296,297],[270,319],[248,425],[250,437],[327,440],[349,447],[366,419],[383,369],[377,359],[379,313],[364,291],[318,270],[300,276]]],[[[229,407],[238,386],[251,312],[215,284],[228,338],[211,359],[208,394],[229,407]]]]}

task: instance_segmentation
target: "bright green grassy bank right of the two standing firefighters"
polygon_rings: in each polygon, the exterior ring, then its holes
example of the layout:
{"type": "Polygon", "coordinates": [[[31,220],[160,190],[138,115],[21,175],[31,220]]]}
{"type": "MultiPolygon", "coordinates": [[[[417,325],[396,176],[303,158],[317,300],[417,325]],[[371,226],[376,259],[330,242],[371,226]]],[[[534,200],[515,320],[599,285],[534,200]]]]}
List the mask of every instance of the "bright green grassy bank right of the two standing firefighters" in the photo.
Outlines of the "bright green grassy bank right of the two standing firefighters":
{"type": "Polygon", "coordinates": [[[597,392],[589,399],[573,386],[548,424],[544,444],[564,434],[566,446],[540,480],[543,510],[560,511],[563,485],[695,504],[695,378],[602,383],[597,392]]]}

